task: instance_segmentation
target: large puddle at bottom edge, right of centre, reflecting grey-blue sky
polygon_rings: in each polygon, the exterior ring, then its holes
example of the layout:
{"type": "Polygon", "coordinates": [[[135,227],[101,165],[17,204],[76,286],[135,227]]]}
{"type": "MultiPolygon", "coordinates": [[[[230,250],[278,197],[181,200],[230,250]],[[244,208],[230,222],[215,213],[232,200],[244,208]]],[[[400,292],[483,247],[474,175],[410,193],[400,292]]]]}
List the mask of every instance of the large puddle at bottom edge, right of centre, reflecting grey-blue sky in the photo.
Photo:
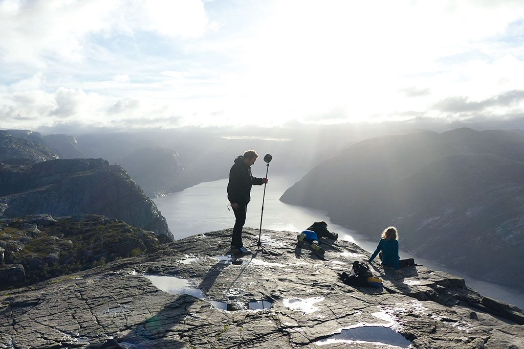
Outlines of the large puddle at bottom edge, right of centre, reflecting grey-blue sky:
{"type": "Polygon", "coordinates": [[[388,327],[381,326],[359,326],[341,333],[332,335],[329,338],[315,342],[316,345],[326,345],[334,343],[362,343],[374,345],[393,345],[401,348],[407,348],[411,344],[400,333],[395,332],[388,327]]]}

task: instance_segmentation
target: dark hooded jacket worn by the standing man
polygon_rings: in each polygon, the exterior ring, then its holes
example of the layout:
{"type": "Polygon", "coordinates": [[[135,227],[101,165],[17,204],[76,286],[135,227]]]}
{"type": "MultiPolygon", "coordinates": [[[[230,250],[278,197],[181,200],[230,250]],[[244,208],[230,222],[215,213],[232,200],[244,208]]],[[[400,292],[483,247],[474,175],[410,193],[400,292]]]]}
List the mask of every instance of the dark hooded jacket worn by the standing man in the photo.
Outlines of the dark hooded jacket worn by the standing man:
{"type": "Polygon", "coordinates": [[[232,204],[246,205],[251,196],[251,186],[262,185],[263,178],[256,178],[251,175],[251,168],[246,166],[244,158],[239,155],[235,163],[231,166],[230,181],[227,184],[227,199],[232,204]]]}

